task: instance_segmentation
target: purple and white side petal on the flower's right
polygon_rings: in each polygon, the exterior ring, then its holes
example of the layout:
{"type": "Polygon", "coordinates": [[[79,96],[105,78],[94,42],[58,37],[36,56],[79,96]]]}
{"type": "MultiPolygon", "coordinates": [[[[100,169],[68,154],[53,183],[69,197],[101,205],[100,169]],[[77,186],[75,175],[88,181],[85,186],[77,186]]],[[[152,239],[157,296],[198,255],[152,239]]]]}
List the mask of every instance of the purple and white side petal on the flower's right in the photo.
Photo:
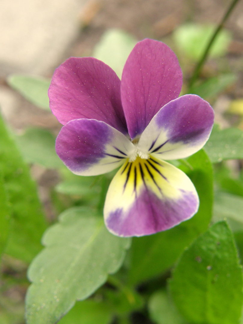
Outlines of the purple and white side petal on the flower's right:
{"type": "Polygon", "coordinates": [[[190,156],[209,138],[214,110],[196,95],[170,101],[150,121],[138,147],[157,158],[170,160],[190,156]]]}

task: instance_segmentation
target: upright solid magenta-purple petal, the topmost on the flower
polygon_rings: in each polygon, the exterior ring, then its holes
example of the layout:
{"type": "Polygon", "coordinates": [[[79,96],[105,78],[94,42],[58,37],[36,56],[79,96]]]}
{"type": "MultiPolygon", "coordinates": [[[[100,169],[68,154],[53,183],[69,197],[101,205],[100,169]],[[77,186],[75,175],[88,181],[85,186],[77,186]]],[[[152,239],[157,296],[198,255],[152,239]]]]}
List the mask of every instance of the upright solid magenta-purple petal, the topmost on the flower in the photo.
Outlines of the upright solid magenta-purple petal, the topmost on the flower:
{"type": "Polygon", "coordinates": [[[121,77],[121,101],[132,139],[161,107],[178,98],[181,86],[177,57],[167,45],[150,39],[136,44],[121,77]]]}

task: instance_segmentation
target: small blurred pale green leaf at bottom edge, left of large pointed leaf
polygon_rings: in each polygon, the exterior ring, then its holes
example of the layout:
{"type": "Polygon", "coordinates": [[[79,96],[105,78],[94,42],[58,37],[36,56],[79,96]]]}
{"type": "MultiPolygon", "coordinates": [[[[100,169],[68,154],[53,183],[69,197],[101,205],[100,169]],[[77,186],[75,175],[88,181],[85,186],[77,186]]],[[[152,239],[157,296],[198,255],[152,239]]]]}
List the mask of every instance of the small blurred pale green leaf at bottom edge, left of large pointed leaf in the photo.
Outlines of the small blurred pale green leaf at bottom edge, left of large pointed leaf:
{"type": "Polygon", "coordinates": [[[165,291],[156,291],[148,301],[150,318],[157,324],[185,324],[165,291]]]}

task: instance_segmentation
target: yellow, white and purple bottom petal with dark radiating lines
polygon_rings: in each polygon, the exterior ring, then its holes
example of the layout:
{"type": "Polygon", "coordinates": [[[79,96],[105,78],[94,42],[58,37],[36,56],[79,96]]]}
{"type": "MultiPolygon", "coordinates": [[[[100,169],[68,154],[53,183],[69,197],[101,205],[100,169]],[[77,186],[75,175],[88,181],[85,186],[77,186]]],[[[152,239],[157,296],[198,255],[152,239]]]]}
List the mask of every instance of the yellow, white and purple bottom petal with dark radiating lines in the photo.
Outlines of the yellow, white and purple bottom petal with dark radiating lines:
{"type": "Polygon", "coordinates": [[[199,198],[187,175],[150,157],[126,161],[110,183],[104,218],[109,231],[122,237],[167,230],[191,218],[199,198]]]}

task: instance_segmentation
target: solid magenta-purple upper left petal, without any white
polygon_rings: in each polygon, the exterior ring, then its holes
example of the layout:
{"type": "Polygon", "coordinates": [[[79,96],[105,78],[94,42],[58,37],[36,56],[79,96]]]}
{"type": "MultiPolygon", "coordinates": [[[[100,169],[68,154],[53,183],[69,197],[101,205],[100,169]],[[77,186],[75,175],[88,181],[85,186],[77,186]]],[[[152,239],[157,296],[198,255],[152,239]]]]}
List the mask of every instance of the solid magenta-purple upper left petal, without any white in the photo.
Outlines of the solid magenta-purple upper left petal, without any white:
{"type": "Polygon", "coordinates": [[[97,119],[127,133],[120,83],[105,63],[93,57],[70,57],[52,77],[50,108],[63,125],[73,119],[97,119]]]}

